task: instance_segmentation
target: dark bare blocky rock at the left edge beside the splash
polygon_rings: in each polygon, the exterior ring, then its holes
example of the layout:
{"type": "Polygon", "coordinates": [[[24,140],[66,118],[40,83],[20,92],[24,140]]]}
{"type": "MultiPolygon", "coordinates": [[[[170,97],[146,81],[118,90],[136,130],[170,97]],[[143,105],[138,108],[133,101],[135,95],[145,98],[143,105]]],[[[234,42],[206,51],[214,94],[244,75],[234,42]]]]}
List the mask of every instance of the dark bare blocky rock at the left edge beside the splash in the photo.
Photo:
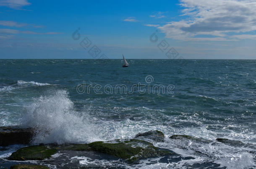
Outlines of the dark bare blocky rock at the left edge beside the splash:
{"type": "Polygon", "coordinates": [[[0,146],[8,146],[12,144],[29,144],[32,138],[32,129],[23,129],[20,126],[0,127],[0,146]]]}

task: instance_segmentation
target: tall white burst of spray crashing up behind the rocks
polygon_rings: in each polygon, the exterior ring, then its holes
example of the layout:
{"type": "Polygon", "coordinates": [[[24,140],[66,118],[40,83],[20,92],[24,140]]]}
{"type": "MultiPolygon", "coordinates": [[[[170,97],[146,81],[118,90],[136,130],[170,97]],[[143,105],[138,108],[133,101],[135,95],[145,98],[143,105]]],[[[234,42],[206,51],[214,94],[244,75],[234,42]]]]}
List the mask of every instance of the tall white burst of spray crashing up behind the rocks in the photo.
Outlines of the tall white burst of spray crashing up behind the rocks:
{"type": "Polygon", "coordinates": [[[35,129],[34,144],[88,143],[98,141],[90,121],[78,115],[65,90],[49,91],[35,98],[23,117],[25,127],[35,129]]]}

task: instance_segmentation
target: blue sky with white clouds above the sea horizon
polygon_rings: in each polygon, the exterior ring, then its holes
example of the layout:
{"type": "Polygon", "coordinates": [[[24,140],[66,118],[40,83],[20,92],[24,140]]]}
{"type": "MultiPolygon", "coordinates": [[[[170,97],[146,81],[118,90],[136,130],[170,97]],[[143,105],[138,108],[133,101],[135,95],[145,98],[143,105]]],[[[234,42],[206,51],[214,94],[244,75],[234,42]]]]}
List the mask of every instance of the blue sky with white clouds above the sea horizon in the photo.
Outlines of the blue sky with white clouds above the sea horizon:
{"type": "Polygon", "coordinates": [[[0,59],[256,59],[256,0],[0,0],[0,59]]]}

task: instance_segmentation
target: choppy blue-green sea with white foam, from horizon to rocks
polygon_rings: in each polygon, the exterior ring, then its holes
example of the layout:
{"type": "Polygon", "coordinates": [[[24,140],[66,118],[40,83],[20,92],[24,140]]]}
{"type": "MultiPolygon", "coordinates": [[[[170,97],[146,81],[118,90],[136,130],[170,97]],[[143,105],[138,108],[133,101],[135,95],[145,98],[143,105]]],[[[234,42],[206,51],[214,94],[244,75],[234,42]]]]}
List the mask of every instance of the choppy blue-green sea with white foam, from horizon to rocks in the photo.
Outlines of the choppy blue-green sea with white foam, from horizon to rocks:
{"type": "MultiPolygon", "coordinates": [[[[139,166],[130,167],[256,167],[253,146],[214,141],[227,138],[256,144],[255,60],[128,62],[130,67],[122,68],[121,60],[112,59],[0,60],[0,126],[21,124],[37,128],[35,144],[129,139],[138,132],[157,129],[166,139],[164,143],[154,143],[155,146],[194,159],[155,159],[155,163],[141,161],[139,166]],[[127,86],[127,94],[120,93],[118,88],[115,92],[116,85],[122,84],[127,86]],[[112,94],[110,90],[104,91],[106,85],[112,86],[112,94]],[[137,87],[132,88],[133,85],[137,87]],[[164,86],[165,92],[152,90],[154,85],[164,86]],[[84,92],[78,93],[77,86],[84,92]],[[146,92],[139,91],[138,86],[146,92]],[[46,135],[45,131],[50,132],[46,135]],[[173,134],[213,142],[173,141],[168,138],[173,134]]],[[[11,146],[10,151],[17,147],[11,146]]],[[[10,151],[0,151],[0,157],[10,155],[10,151]]],[[[89,157],[71,158],[81,165],[90,164],[89,157]]],[[[94,163],[117,165],[106,160],[94,163]]]]}

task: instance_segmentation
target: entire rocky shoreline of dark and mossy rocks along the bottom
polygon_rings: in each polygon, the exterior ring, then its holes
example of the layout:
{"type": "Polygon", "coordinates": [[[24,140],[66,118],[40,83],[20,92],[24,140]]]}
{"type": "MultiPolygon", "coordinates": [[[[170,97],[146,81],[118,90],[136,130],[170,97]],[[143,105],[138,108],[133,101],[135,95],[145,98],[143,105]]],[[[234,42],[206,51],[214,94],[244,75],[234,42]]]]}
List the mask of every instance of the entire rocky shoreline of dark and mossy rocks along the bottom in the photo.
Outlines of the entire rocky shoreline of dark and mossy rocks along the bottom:
{"type": "MultiPolygon", "coordinates": [[[[3,126],[0,127],[0,146],[9,146],[12,144],[30,145],[34,136],[33,129],[22,129],[19,126],[3,126]]],[[[169,139],[180,141],[199,141],[210,143],[211,140],[196,138],[187,135],[172,135],[169,139]]],[[[42,161],[51,158],[54,154],[60,154],[63,151],[105,154],[105,156],[113,159],[120,159],[127,164],[136,163],[141,159],[158,158],[158,157],[174,157],[178,156],[174,151],[156,147],[152,142],[164,142],[165,135],[161,131],[148,131],[139,133],[133,139],[117,139],[112,141],[96,141],[89,144],[39,144],[30,145],[18,149],[13,152],[6,160],[9,161],[42,161]]],[[[223,144],[235,144],[246,146],[241,141],[232,141],[229,139],[218,138],[215,141],[223,144]]],[[[247,145],[254,146],[254,145],[247,145]]],[[[104,155],[103,155],[104,156],[104,155]]],[[[182,158],[182,157],[180,157],[182,158]]],[[[187,157],[188,158],[188,157],[187,157]]],[[[188,159],[193,159],[189,157],[188,159]]],[[[47,166],[18,164],[13,165],[10,169],[46,169],[47,166]]]]}

